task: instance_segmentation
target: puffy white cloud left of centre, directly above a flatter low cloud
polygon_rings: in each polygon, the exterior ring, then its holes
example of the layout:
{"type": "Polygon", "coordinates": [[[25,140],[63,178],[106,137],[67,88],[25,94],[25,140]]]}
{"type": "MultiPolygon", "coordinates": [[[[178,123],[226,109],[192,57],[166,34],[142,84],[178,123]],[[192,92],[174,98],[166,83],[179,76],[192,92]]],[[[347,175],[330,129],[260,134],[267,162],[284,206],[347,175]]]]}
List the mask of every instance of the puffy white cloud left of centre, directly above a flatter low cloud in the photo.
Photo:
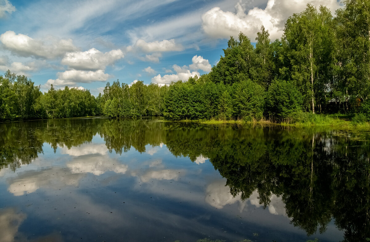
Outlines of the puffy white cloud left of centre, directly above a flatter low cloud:
{"type": "Polygon", "coordinates": [[[102,53],[92,48],[84,52],[67,53],[61,63],[77,70],[104,70],[107,65],[123,57],[124,54],[120,49],[102,53]]]}

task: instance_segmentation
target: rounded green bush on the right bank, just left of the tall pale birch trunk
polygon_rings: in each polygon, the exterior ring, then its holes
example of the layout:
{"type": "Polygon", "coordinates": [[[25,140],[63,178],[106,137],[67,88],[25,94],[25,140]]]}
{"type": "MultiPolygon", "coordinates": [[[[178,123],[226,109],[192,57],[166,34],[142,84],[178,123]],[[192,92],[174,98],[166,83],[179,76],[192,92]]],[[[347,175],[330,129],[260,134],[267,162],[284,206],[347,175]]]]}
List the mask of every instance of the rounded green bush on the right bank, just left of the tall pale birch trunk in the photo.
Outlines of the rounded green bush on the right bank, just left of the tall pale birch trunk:
{"type": "Polygon", "coordinates": [[[302,111],[302,94],[290,82],[274,80],[266,94],[266,114],[285,119],[302,111]]]}

